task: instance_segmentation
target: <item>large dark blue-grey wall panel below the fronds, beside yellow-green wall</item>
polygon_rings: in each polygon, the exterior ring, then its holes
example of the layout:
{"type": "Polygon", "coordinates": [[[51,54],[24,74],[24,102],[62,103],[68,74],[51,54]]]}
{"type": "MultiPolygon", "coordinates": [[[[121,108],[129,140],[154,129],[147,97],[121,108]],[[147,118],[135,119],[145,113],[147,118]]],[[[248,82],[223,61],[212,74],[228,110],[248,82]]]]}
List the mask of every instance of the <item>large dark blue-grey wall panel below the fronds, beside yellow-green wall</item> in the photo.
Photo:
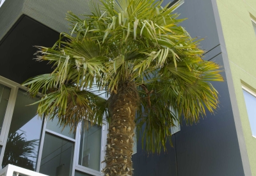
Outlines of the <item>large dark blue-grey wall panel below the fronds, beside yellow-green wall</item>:
{"type": "MultiPolygon", "coordinates": [[[[223,65],[221,54],[213,60],[223,65]]],[[[175,136],[179,176],[244,175],[227,82],[214,86],[220,93],[216,114],[192,126],[183,122],[175,136]]]]}

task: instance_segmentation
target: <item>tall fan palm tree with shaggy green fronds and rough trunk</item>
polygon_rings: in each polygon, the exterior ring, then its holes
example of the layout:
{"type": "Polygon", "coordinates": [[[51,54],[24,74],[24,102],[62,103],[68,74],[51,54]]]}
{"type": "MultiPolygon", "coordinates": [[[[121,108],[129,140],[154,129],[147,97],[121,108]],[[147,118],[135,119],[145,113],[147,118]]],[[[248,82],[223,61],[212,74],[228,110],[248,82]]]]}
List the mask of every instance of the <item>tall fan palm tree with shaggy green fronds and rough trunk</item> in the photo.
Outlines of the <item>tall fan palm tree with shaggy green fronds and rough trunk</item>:
{"type": "Polygon", "coordinates": [[[179,26],[175,7],[154,0],[92,3],[92,15],[69,12],[70,34],[51,47],[38,47],[38,61],[51,74],[26,81],[31,95],[42,92],[38,115],[77,127],[109,121],[105,175],[132,175],[132,136],[140,131],[148,151],[165,150],[170,127],[180,116],[198,122],[218,107],[211,81],[223,81],[220,66],[202,60],[198,40],[179,26]],[[108,94],[108,100],[95,91],[108,94]],[[174,111],[176,113],[173,113],[174,111]],[[136,119],[135,119],[136,116],[136,119]],[[85,124],[86,124],[85,123],[85,124]]]}

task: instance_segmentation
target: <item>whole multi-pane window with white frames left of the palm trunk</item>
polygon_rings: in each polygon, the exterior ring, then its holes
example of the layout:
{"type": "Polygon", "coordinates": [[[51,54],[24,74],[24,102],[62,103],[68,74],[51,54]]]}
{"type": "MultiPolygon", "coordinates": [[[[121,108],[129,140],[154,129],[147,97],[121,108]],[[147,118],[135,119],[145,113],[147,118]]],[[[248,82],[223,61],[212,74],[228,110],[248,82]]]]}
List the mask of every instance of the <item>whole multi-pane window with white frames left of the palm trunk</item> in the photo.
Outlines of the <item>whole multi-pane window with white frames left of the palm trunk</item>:
{"type": "Polygon", "coordinates": [[[13,164],[51,176],[102,176],[106,122],[88,131],[79,124],[76,133],[70,132],[58,118],[38,118],[37,106],[26,106],[38,98],[24,89],[0,76],[0,166],[13,164]]]}

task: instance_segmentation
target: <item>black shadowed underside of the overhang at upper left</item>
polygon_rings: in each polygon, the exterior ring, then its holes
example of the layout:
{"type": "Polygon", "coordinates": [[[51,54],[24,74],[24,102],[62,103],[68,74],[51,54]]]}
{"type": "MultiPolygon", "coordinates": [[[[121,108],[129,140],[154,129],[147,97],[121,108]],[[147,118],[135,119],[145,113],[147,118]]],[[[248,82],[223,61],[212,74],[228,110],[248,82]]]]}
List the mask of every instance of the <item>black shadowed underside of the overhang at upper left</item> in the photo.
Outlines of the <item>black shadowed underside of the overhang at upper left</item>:
{"type": "Polygon", "coordinates": [[[0,76],[17,83],[29,77],[51,72],[46,62],[33,60],[38,49],[35,45],[51,47],[60,34],[27,17],[17,22],[0,42],[0,76]]]}

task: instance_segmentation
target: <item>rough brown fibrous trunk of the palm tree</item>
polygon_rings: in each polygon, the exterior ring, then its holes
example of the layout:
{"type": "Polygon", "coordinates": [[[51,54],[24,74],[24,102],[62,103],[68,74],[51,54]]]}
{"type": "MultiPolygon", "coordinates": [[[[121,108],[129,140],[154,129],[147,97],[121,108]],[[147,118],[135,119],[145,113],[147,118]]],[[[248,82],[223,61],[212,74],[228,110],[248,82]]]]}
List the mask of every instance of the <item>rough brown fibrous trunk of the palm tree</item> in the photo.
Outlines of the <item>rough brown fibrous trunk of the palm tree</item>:
{"type": "Polygon", "coordinates": [[[106,149],[106,176],[132,175],[132,146],[138,91],[131,81],[118,84],[116,92],[109,98],[111,122],[106,149]]]}

